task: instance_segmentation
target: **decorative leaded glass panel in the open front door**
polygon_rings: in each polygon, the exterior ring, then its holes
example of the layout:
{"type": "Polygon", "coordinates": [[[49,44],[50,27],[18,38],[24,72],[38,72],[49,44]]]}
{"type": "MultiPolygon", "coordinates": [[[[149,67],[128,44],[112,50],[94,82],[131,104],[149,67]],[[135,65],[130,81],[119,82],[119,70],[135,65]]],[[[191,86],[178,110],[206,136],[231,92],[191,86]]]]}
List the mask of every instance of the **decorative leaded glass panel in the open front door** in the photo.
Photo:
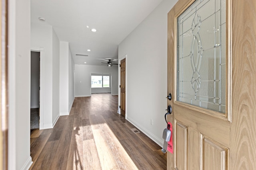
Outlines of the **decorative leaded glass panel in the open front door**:
{"type": "Polygon", "coordinates": [[[225,113],[225,0],[196,0],[177,26],[177,100],[225,113]]]}

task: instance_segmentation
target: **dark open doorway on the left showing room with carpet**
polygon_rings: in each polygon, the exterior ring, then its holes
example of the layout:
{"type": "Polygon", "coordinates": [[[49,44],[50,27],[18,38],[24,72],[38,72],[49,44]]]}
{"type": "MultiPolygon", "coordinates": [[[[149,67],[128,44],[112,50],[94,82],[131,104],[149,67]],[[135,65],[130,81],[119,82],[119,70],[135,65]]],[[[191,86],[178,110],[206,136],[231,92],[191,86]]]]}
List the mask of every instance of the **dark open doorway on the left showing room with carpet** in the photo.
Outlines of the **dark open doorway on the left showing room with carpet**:
{"type": "Polygon", "coordinates": [[[39,129],[40,121],[40,52],[31,51],[30,129],[39,129]]]}

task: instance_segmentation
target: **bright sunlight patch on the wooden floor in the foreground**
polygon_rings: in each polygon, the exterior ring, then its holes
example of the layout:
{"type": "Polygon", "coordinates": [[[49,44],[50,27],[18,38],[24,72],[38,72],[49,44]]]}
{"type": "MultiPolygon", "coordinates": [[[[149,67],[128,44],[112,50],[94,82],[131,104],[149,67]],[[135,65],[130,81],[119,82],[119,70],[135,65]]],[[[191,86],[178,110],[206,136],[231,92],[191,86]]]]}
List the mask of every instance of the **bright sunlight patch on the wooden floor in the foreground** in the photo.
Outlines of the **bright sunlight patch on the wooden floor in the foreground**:
{"type": "Polygon", "coordinates": [[[74,169],[130,169],[138,170],[124,147],[106,123],[94,126],[94,139],[82,140],[82,127],[75,127],[72,135],[76,136],[76,143],[82,142],[82,147],[76,146],[72,155],[74,169]],[[100,128],[99,128],[100,127],[100,128]],[[83,152],[83,154],[81,153],[83,152]],[[84,155],[84,158],[81,158],[84,155]]]}

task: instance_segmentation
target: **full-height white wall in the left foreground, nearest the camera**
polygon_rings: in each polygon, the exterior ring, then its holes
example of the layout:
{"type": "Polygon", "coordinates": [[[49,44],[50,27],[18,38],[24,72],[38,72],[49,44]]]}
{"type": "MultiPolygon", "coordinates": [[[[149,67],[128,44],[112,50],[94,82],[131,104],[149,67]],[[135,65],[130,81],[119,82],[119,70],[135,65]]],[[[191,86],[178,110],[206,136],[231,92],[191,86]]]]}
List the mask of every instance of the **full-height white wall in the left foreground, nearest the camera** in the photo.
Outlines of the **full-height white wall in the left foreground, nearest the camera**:
{"type": "Polygon", "coordinates": [[[8,0],[8,169],[30,157],[30,1],[8,0]]]}

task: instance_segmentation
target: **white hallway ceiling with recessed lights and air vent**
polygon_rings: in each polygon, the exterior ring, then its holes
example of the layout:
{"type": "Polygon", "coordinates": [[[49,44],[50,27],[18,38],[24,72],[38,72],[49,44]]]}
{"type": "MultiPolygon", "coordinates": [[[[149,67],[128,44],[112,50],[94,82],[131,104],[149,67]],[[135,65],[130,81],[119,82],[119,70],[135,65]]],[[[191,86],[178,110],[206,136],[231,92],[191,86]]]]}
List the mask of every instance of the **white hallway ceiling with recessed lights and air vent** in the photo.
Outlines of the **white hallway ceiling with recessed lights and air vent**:
{"type": "Polygon", "coordinates": [[[75,64],[101,65],[105,59],[115,59],[113,63],[117,63],[118,44],[160,2],[162,0],[31,0],[31,22],[52,25],[60,41],[69,42],[75,64]],[[46,21],[39,21],[39,17],[46,21]],[[90,31],[92,28],[97,31],[90,31]]]}

